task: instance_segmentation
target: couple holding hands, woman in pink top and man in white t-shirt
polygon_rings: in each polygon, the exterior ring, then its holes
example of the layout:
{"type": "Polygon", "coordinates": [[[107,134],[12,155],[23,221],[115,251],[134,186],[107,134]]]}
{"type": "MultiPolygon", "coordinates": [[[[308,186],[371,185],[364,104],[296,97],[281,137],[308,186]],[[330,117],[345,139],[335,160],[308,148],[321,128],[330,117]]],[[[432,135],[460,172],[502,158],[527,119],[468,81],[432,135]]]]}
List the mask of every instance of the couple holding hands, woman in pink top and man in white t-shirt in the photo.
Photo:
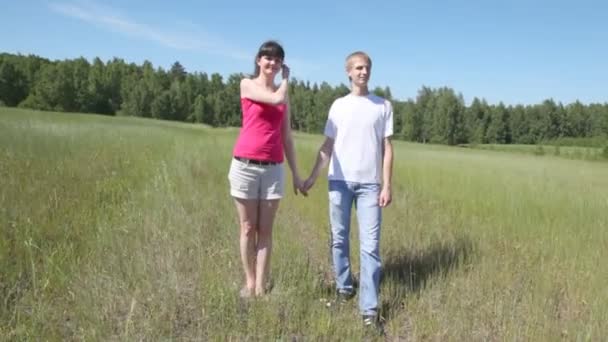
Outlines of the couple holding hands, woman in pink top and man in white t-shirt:
{"type": "Polygon", "coordinates": [[[356,208],[360,236],[359,308],[365,326],[377,326],[380,285],[381,209],[391,203],[393,109],[371,94],[372,61],[362,52],[346,58],[351,92],[336,99],[325,124],[310,176],[298,173],[289,115],[289,68],[275,41],[260,46],[251,78],[241,81],[242,128],[233,150],[228,179],[240,223],[240,252],[245,271],[241,297],[264,295],[272,251],[272,226],[284,193],[284,158],[294,192],[306,196],[329,165],[329,221],[336,294],[355,296],[349,260],[350,218],[356,208]],[[277,85],[275,77],[281,73],[277,85]]]}

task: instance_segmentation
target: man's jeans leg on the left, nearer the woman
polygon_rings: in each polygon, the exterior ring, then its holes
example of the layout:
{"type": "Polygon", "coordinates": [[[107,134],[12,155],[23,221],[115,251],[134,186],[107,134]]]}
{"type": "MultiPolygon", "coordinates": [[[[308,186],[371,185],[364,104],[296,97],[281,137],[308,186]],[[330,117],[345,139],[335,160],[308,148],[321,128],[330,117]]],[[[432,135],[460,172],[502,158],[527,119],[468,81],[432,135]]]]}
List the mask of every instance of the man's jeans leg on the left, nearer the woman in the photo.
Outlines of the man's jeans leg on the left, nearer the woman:
{"type": "Polygon", "coordinates": [[[329,182],[329,220],[331,253],[338,292],[353,292],[350,270],[350,213],[353,192],[344,181],[329,182]]]}

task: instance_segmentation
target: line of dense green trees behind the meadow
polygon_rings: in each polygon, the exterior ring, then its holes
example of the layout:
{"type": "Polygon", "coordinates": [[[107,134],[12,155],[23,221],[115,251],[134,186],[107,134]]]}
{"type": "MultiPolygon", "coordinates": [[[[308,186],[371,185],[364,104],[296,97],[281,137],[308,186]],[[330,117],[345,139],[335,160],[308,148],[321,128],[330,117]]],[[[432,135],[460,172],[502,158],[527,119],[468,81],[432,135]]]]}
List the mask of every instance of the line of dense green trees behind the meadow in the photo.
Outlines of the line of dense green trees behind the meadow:
{"type": "MultiPolygon", "coordinates": [[[[35,55],[0,54],[0,105],[62,112],[127,115],[204,123],[240,125],[240,80],[235,73],[187,72],[175,62],[170,69],[114,58],[51,61],[35,55]]],[[[293,128],[321,133],[329,106],[349,92],[346,85],[291,80],[293,128]]],[[[449,87],[422,87],[415,98],[393,98],[390,88],[373,92],[393,102],[397,138],[438,144],[537,144],[608,139],[608,103],[562,104],[547,99],[535,105],[488,104],[474,98],[466,105],[449,87]]]]}

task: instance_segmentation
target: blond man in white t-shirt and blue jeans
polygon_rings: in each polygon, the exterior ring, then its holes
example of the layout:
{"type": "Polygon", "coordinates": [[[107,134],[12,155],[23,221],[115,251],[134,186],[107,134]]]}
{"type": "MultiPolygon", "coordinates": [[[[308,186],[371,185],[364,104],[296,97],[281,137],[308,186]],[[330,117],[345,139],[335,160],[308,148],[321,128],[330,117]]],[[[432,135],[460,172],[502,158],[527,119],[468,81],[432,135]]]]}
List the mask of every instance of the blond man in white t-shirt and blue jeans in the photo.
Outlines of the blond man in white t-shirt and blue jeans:
{"type": "Polygon", "coordinates": [[[329,216],[338,299],[355,295],[349,257],[351,208],[360,229],[359,308],[363,324],[381,328],[378,320],[381,208],[391,203],[393,110],[389,101],[370,94],[372,61],[361,51],[346,58],[350,94],[329,110],[326,139],[304,183],[308,190],[329,162],[329,216]]]}

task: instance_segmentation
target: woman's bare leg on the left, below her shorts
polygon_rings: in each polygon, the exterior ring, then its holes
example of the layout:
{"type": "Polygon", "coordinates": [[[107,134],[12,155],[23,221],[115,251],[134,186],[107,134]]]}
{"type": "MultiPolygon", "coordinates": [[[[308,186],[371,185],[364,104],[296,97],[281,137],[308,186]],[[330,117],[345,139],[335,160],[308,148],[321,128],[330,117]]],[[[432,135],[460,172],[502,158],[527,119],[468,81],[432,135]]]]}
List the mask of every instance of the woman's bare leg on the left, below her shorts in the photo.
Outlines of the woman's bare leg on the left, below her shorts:
{"type": "Polygon", "coordinates": [[[235,198],[236,210],[239,214],[240,223],[240,250],[241,262],[245,270],[245,288],[247,293],[242,295],[251,296],[255,289],[255,243],[258,231],[258,206],[259,200],[235,198]]]}

